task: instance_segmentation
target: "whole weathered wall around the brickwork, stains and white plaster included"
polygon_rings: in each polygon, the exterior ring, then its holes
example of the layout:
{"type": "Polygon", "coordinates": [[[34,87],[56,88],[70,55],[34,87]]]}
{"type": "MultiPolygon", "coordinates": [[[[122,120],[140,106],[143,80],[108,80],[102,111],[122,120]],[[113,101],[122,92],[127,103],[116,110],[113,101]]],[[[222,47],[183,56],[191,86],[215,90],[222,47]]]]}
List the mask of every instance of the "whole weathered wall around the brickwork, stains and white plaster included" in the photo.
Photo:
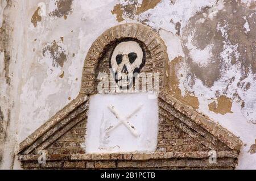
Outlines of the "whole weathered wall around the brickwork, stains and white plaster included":
{"type": "Polygon", "coordinates": [[[110,27],[133,22],[154,28],[165,41],[174,96],[239,136],[245,146],[237,169],[256,169],[256,154],[249,153],[256,144],[256,52],[250,47],[255,1],[0,2],[0,26],[6,19],[5,27],[12,27],[5,44],[10,61],[0,44],[0,107],[7,128],[1,168],[12,167],[15,144],[79,94],[93,41],[110,27]]]}

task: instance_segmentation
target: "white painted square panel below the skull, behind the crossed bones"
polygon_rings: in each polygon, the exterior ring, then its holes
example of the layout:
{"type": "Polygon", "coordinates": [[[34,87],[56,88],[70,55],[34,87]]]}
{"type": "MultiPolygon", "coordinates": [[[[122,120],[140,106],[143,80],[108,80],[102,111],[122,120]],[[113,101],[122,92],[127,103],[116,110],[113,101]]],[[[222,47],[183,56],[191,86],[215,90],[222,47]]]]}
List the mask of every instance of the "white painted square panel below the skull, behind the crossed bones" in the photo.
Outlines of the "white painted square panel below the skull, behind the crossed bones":
{"type": "Polygon", "coordinates": [[[158,134],[157,99],[148,94],[93,95],[90,97],[86,130],[86,153],[154,152],[158,134]],[[119,119],[108,108],[114,106],[119,119]],[[141,107],[141,108],[139,108],[141,107]],[[138,109],[138,110],[137,110],[138,109]],[[137,112],[132,114],[135,110],[137,112]],[[131,116],[130,118],[127,118],[131,116]],[[108,128],[118,126],[108,132],[108,128]],[[138,134],[137,134],[138,133],[138,134]]]}

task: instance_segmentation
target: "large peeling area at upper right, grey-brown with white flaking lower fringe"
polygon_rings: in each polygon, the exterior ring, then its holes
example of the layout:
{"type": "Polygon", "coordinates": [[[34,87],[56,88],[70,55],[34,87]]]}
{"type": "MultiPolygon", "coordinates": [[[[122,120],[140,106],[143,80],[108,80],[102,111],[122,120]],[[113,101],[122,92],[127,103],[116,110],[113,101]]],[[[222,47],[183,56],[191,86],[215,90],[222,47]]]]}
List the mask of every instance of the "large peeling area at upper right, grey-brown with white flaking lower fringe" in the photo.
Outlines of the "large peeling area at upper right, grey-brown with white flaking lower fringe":
{"type": "Polygon", "coordinates": [[[193,15],[181,31],[188,70],[180,85],[208,100],[229,97],[241,104],[250,123],[256,121],[251,111],[256,107],[255,19],[255,10],[240,2],[218,1],[193,15]]]}

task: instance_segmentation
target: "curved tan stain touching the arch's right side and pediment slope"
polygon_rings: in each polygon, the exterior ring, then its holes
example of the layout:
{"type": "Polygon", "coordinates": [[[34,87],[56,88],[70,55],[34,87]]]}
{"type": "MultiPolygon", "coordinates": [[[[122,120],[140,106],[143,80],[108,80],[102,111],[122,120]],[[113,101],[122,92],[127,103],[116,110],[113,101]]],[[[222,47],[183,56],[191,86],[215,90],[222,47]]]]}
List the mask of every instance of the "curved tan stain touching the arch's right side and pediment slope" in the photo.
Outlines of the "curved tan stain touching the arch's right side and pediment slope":
{"type": "Polygon", "coordinates": [[[185,92],[183,96],[179,88],[179,79],[177,78],[177,69],[180,68],[182,57],[176,57],[170,64],[170,75],[168,76],[168,90],[170,94],[175,98],[183,101],[184,103],[192,106],[195,110],[199,108],[199,100],[196,96],[190,95],[189,92],[185,92]]]}

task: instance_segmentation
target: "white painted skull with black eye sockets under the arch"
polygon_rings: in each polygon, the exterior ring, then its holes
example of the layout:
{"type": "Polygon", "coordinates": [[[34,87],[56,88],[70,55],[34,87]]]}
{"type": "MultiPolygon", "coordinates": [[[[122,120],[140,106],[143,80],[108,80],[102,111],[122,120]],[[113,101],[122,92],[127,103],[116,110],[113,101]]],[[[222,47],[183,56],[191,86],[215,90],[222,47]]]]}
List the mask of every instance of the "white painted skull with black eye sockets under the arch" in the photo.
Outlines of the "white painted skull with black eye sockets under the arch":
{"type": "Polygon", "coordinates": [[[140,73],[145,64],[144,53],[136,41],[122,41],[112,53],[110,68],[120,89],[129,88],[136,73],[140,73]]]}

